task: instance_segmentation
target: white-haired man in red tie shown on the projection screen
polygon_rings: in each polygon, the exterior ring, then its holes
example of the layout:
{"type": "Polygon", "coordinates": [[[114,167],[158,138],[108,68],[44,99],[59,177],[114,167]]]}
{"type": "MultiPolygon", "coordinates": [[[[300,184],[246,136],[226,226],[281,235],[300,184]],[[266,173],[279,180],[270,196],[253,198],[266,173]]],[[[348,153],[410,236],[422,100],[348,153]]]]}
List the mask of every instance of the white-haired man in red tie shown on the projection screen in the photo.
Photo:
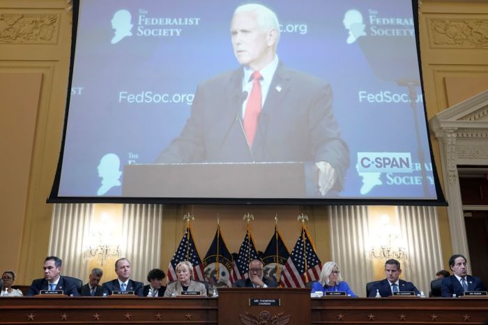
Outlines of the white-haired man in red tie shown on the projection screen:
{"type": "Polygon", "coordinates": [[[273,11],[234,11],[231,43],[241,68],[199,84],[181,135],[156,162],[314,162],[317,190],[342,190],[349,149],[340,137],[330,85],[284,66],[273,11]]]}

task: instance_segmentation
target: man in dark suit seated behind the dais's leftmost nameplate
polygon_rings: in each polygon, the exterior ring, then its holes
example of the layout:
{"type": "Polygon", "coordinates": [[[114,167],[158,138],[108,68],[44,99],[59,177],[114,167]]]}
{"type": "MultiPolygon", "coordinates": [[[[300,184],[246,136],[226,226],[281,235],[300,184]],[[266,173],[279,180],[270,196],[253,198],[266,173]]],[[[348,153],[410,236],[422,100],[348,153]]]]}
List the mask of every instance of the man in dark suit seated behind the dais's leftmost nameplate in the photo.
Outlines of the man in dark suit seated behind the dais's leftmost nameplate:
{"type": "Polygon", "coordinates": [[[63,290],[66,296],[79,296],[77,284],[61,275],[63,261],[59,257],[48,256],[44,260],[44,278],[32,281],[26,296],[36,296],[40,290],[63,290]]]}

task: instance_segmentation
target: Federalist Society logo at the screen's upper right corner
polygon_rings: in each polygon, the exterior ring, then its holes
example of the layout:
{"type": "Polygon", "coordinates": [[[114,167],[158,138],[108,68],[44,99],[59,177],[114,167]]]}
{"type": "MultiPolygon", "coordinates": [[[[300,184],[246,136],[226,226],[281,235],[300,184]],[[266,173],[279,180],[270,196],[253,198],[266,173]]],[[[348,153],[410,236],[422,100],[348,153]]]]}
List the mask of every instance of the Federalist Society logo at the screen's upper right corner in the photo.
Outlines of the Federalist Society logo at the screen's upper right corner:
{"type": "Polygon", "coordinates": [[[381,16],[378,10],[367,10],[367,21],[359,10],[347,10],[344,27],[349,31],[346,43],[352,44],[361,36],[414,36],[413,18],[381,16]]]}

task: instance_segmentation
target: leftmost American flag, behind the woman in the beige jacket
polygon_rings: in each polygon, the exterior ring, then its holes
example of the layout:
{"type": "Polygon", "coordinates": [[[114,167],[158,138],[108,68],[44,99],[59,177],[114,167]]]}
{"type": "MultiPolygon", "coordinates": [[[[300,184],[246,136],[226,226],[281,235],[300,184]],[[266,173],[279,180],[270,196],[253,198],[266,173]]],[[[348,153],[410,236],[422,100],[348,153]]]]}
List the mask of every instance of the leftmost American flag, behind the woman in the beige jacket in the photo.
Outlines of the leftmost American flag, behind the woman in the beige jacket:
{"type": "Polygon", "coordinates": [[[198,255],[195,241],[193,241],[190,227],[186,228],[185,234],[178,245],[178,249],[174,252],[173,258],[168,265],[168,282],[178,280],[176,276],[176,265],[182,261],[190,261],[193,265],[193,276],[195,280],[205,280],[204,264],[201,263],[200,255],[198,255]]]}

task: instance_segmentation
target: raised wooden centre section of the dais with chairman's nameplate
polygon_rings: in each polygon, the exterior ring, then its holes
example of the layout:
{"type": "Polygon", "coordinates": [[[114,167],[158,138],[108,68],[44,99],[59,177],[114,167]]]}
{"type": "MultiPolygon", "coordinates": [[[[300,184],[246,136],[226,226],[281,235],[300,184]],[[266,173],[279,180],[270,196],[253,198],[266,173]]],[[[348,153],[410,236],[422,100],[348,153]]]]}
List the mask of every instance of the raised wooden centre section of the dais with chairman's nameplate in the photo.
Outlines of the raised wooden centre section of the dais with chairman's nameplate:
{"type": "Polygon", "coordinates": [[[310,323],[310,289],[219,289],[220,325],[310,323]]]}

